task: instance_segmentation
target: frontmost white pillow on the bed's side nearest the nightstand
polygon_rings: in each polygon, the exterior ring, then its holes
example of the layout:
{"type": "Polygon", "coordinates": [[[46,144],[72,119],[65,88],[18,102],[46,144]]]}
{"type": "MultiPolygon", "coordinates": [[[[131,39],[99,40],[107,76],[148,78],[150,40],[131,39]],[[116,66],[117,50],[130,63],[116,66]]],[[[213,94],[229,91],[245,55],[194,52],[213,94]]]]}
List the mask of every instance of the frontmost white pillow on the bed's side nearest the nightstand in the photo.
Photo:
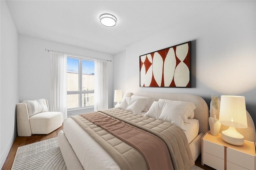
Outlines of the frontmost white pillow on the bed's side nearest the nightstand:
{"type": "Polygon", "coordinates": [[[162,113],[159,117],[159,120],[170,122],[180,127],[182,130],[186,131],[184,121],[183,121],[184,115],[185,115],[184,109],[180,107],[180,104],[165,103],[165,105],[163,105],[162,113]]]}

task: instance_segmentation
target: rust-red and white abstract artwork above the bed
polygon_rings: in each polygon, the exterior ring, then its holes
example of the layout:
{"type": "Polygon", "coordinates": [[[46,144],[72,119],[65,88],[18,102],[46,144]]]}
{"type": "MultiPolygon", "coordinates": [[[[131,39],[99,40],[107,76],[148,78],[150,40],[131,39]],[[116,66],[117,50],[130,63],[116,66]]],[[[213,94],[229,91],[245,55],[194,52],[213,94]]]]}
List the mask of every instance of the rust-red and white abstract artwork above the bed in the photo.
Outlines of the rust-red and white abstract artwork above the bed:
{"type": "Polygon", "coordinates": [[[140,87],[191,87],[191,42],[140,55],[140,87]]]}

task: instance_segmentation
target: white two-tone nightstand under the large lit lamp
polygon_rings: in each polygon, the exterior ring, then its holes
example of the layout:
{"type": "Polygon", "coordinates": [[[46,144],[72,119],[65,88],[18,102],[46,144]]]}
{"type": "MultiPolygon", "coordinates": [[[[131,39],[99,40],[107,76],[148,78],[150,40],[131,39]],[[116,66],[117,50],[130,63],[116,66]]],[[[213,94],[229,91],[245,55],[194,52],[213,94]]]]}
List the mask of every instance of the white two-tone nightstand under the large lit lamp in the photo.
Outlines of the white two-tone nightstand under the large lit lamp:
{"type": "Polygon", "coordinates": [[[242,146],[222,140],[221,134],[212,136],[208,131],[202,137],[202,165],[217,170],[255,170],[255,142],[244,141],[242,146]]]}

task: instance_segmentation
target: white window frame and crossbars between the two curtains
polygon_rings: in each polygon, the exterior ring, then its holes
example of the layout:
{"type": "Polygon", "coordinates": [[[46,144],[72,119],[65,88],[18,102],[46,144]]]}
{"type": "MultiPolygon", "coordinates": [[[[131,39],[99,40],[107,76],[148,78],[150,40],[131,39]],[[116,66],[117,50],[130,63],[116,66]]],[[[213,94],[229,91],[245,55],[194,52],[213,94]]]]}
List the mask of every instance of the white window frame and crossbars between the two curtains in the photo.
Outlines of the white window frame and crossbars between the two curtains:
{"type": "MultiPolygon", "coordinates": [[[[73,59],[78,59],[78,91],[68,91],[67,90],[67,96],[68,95],[79,95],[79,106],[78,107],[73,107],[73,108],[69,108],[67,109],[67,111],[71,111],[71,110],[79,110],[79,109],[87,109],[87,108],[93,108],[94,105],[91,105],[91,106],[82,106],[84,102],[84,100],[82,99],[83,97],[83,94],[94,94],[94,90],[88,90],[88,91],[83,91],[82,90],[82,60],[86,60],[86,61],[93,61],[94,62],[94,59],[90,59],[90,58],[85,58],[85,57],[78,57],[78,56],[75,56],[75,55],[67,55],[67,58],[73,58],[73,59]]],[[[67,63],[68,65],[68,63],[67,63]]],[[[95,70],[94,70],[95,72],[95,70]]],[[[67,73],[67,72],[66,72],[67,73]]],[[[95,83],[95,81],[94,81],[95,83]]]]}

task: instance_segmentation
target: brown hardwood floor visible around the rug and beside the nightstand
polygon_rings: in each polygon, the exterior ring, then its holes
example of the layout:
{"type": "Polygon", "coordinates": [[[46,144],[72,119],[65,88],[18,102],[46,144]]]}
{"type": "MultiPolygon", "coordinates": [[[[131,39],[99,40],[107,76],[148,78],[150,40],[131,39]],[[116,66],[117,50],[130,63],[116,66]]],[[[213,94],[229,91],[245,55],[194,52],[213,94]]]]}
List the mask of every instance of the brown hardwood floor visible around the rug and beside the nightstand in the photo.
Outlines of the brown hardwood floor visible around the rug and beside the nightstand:
{"type": "MultiPolygon", "coordinates": [[[[62,129],[63,129],[63,125],[62,125],[62,127],[56,129],[55,131],[53,131],[49,134],[45,134],[45,135],[44,134],[42,134],[42,135],[32,135],[32,136],[29,136],[29,137],[17,136],[16,139],[14,140],[14,143],[12,144],[12,148],[11,148],[7,158],[6,158],[6,161],[4,162],[2,170],[10,170],[12,168],[12,163],[14,161],[15,154],[16,154],[16,151],[17,151],[18,147],[24,146],[26,144],[31,144],[31,143],[34,143],[34,142],[39,142],[39,141],[42,141],[42,140],[47,140],[47,139],[50,139],[50,138],[55,138],[55,137],[57,137],[58,132],[62,129]]],[[[201,165],[201,155],[197,158],[195,164],[196,164],[196,166],[199,166],[200,168],[203,168],[204,170],[214,170],[213,168],[211,168],[207,165],[204,165],[204,166],[201,165]]]]}

